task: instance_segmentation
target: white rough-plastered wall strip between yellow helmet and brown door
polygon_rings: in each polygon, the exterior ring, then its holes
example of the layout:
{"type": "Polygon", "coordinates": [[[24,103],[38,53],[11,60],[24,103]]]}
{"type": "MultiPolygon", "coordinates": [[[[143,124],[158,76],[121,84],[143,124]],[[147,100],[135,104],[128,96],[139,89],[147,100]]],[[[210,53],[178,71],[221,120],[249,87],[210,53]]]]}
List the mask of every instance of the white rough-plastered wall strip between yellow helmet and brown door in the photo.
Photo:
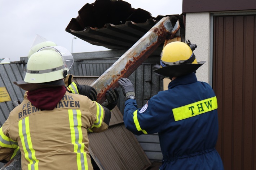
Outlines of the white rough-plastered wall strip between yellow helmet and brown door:
{"type": "Polygon", "coordinates": [[[198,81],[210,83],[211,55],[211,15],[210,13],[186,13],[186,40],[195,43],[194,51],[197,61],[206,61],[197,70],[198,81]]]}

